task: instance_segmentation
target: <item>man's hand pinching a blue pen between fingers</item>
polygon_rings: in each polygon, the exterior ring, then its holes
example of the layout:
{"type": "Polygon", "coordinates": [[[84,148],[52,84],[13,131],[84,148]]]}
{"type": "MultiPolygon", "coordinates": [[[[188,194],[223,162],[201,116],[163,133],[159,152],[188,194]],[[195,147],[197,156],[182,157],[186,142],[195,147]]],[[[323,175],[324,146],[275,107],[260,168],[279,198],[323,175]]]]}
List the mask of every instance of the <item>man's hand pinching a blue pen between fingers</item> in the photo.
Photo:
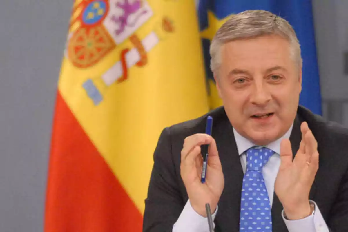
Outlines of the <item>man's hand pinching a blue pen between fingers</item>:
{"type": "MultiPolygon", "coordinates": [[[[209,120],[211,119],[207,118],[207,120],[209,128],[209,120]]],[[[205,205],[209,203],[211,211],[214,213],[224,187],[224,177],[215,139],[211,135],[199,133],[185,138],[181,151],[180,174],[191,207],[198,214],[206,217],[205,205]],[[201,150],[202,145],[207,145],[207,151],[203,151],[205,150],[204,146],[201,150]],[[206,160],[205,170],[203,170],[204,156],[206,160]]]]}

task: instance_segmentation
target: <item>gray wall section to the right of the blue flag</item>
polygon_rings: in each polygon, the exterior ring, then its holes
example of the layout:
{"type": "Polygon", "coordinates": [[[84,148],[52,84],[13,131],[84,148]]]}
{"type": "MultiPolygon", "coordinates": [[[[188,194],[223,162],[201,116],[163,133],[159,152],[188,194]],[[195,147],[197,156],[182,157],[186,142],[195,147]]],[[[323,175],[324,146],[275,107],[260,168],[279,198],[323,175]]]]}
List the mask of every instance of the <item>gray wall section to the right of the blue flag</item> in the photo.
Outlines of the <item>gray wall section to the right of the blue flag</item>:
{"type": "Polygon", "coordinates": [[[348,126],[348,1],[313,0],[325,118],[348,126]]]}

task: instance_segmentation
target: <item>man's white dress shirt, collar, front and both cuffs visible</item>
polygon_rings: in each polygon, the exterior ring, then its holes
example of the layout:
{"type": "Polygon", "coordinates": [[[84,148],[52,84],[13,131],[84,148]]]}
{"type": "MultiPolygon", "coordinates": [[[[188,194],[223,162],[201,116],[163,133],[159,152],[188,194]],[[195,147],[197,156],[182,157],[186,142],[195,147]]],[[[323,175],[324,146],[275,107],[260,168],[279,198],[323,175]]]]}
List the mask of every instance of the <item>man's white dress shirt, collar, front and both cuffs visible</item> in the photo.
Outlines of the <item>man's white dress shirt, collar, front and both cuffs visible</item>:
{"type": "MultiPolygon", "coordinates": [[[[285,133],[285,135],[278,140],[268,144],[266,147],[275,152],[266,165],[262,168],[262,175],[264,177],[264,182],[268,192],[269,200],[272,207],[273,194],[274,194],[274,183],[277,177],[277,173],[280,166],[280,142],[283,138],[290,138],[293,125],[285,133]]],[[[245,174],[246,170],[246,150],[255,146],[248,139],[241,136],[235,128],[233,128],[237,150],[240,156],[240,163],[242,164],[243,173],[245,174]]],[[[296,151],[293,151],[296,152],[296,151]]],[[[282,212],[282,217],[285,222],[285,225],[289,232],[329,232],[329,229],[324,221],[322,214],[320,213],[319,208],[317,207],[314,201],[311,201],[314,204],[315,210],[314,213],[306,218],[299,220],[288,220],[284,217],[284,210],[282,212]]],[[[215,212],[212,215],[213,221],[215,219],[218,207],[216,207],[215,212]]],[[[215,225],[214,225],[215,226],[215,225]]],[[[184,209],[182,210],[179,218],[173,225],[173,232],[209,232],[208,221],[206,217],[199,215],[190,204],[190,199],[187,201],[184,209]]]]}

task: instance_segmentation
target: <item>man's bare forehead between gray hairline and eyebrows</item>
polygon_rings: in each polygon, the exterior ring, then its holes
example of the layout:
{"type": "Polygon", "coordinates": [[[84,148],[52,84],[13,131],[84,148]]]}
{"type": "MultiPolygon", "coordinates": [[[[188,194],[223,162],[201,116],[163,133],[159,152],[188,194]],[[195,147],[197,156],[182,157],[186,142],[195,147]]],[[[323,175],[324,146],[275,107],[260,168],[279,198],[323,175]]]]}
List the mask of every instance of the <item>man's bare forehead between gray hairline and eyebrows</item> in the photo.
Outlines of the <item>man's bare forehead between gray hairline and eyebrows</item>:
{"type": "Polygon", "coordinates": [[[279,35],[233,40],[225,43],[221,50],[222,66],[267,69],[295,64],[290,42],[279,35]]]}

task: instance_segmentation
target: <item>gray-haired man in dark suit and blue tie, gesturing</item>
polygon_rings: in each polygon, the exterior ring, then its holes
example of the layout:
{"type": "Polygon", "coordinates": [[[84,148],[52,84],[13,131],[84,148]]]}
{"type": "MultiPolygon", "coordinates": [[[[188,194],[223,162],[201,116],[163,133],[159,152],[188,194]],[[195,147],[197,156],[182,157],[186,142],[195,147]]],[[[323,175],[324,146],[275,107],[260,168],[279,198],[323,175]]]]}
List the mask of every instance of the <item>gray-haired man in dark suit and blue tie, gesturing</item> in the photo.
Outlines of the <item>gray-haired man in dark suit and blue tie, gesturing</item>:
{"type": "Polygon", "coordinates": [[[144,231],[208,231],[205,203],[215,231],[347,231],[348,130],[298,105],[302,59],[291,25],[244,11],[217,31],[210,52],[223,107],[163,130],[144,231]]]}

